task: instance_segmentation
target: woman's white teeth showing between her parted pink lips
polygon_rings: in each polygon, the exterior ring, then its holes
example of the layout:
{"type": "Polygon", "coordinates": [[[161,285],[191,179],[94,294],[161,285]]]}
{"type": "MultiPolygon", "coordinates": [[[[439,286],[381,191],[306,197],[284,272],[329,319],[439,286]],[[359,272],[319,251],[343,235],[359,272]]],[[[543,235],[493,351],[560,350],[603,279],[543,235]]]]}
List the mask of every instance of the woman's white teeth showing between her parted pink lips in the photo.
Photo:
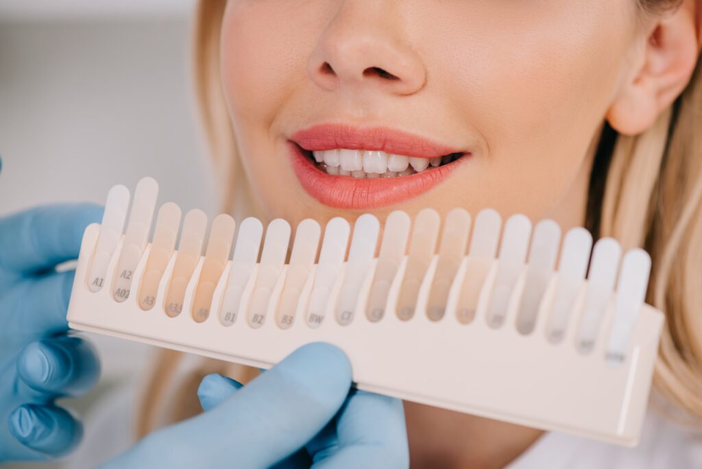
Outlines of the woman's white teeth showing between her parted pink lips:
{"type": "Polygon", "coordinates": [[[359,172],[366,174],[383,174],[394,176],[392,173],[402,173],[412,166],[414,171],[424,171],[431,164],[439,166],[442,157],[436,158],[415,158],[406,157],[402,154],[392,154],[371,150],[324,150],[312,152],[314,161],[324,163],[327,168],[336,168],[327,171],[332,174],[339,174],[339,170],[344,174],[356,172],[354,176],[361,176],[359,172]],[[389,174],[386,174],[389,173],[389,174]]]}

